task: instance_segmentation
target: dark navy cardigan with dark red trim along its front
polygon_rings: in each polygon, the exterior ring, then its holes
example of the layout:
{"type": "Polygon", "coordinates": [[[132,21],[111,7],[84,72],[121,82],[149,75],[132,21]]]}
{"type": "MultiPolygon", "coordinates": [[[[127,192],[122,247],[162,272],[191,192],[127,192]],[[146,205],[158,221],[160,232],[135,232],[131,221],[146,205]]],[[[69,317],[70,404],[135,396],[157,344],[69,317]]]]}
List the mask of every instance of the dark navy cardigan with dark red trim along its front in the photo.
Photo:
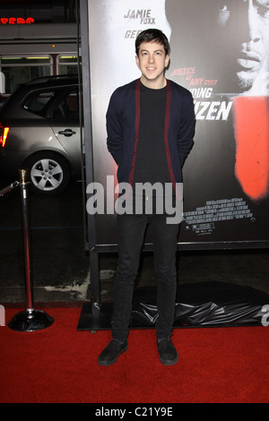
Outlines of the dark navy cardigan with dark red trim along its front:
{"type": "MultiPolygon", "coordinates": [[[[140,123],[140,80],[115,90],[107,112],[108,150],[117,163],[118,183],[133,184],[140,123]]],[[[182,182],[182,166],[193,146],[194,101],[189,90],[167,81],[164,143],[172,184],[182,182]]],[[[154,150],[152,150],[154,153],[154,150]]]]}

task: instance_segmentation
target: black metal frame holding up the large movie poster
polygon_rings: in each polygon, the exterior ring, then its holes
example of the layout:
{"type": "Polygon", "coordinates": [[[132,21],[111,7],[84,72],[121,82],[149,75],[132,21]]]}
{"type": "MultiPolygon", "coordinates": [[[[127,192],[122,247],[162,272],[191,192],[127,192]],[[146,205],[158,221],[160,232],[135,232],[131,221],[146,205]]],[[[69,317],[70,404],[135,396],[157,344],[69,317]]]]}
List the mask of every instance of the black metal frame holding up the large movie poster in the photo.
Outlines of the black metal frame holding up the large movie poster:
{"type": "MultiPolygon", "coordinates": [[[[83,92],[83,131],[85,153],[85,179],[86,185],[94,182],[94,156],[91,120],[91,56],[90,56],[90,28],[89,28],[89,3],[91,0],[77,0],[80,4],[80,27],[82,48],[82,92],[83,92]]],[[[86,211],[86,209],[85,209],[86,211]]],[[[117,253],[117,244],[98,244],[96,235],[95,215],[86,215],[87,245],[90,253],[91,265],[91,315],[93,318],[100,316],[100,277],[99,253],[117,253]]],[[[213,251],[213,250],[246,250],[267,249],[269,240],[257,241],[195,241],[178,242],[178,250],[184,251],[213,251]]],[[[152,244],[143,246],[144,252],[152,252],[152,244]]]]}

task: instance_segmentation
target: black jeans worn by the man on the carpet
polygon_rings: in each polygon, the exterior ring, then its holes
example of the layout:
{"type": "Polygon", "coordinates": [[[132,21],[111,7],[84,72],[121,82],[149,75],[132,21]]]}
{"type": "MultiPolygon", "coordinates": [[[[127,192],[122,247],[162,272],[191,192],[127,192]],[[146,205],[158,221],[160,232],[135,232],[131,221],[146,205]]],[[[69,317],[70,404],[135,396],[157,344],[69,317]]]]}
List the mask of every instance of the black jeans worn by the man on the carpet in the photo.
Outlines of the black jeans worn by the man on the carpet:
{"type": "Polygon", "coordinates": [[[147,225],[152,228],[154,265],[158,278],[157,338],[170,337],[177,294],[176,252],[179,224],[167,224],[166,215],[117,215],[118,265],[115,279],[112,336],[121,342],[128,336],[134,280],[147,225]]]}

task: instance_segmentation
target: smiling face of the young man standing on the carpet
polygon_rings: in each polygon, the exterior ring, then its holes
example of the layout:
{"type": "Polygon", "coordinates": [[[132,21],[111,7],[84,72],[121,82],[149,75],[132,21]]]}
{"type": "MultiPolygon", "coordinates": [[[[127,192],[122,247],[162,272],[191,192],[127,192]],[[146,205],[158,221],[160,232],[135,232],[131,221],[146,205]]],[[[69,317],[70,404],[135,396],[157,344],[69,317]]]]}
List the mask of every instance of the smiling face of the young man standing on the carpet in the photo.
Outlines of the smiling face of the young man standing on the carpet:
{"type": "Polygon", "coordinates": [[[139,47],[135,61],[142,72],[141,82],[152,89],[164,88],[166,81],[164,70],[169,64],[169,56],[164,47],[155,42],[143,42],[139,47]]]}

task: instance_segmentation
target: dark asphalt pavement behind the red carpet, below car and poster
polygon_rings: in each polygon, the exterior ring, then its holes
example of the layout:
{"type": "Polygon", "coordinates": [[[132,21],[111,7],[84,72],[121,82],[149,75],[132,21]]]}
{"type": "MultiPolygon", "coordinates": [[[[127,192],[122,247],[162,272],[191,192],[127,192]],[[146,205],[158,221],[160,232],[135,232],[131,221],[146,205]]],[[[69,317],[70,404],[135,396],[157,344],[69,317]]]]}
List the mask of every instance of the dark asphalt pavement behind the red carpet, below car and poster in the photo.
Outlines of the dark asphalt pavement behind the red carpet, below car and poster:
{"type": "MultiPolygon", "coordinates": [[[[2,180],[0,187],[4,183],[2,180]]],[[[91,300],[81,183],[71,183],[65,193],[56,197],[31,193],[29,197],[34,303],[81,305],[91,300]]],[[[20,187],[0,197],[0,210],[0,304],[23,305],[25,269],[20,187]]],[[[178,283],[228,282],[269,295],[268,254],[268,249],[178,253],[178,283]]],[[[116,253],[100,253],[101,301],[112,300],[116,267],[116,253]]],[[[136,287],[154,285],[152,253],[143,253],[136,287]]]]}

